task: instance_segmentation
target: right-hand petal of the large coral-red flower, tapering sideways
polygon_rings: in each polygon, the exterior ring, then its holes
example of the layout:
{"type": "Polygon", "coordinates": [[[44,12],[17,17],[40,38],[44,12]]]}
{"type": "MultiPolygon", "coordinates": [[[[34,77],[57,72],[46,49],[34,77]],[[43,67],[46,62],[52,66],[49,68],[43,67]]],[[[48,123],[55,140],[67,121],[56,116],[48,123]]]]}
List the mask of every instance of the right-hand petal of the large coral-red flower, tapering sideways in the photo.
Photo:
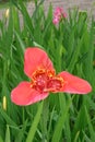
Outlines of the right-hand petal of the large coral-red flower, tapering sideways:
{"type": "Polygon", "coordinates": [[[64,80],[64,85],[61,91],[74,94],[86,94],[92,91],[90,83],[83,79],[70,74],[69,72],[61,72],[59,74],[64,80]]]}

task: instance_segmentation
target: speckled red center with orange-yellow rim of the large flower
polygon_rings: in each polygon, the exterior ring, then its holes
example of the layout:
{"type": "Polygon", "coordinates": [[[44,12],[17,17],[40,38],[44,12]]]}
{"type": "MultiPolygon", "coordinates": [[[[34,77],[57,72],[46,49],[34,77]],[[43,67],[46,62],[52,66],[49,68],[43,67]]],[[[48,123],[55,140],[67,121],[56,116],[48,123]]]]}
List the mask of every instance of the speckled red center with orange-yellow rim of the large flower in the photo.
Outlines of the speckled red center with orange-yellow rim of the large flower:
{"type": "Polygon", "coordinates": [[[63,79],[54,70],[38,69],[33,73],[31,87],[43,92],[57,92],[63,86],[63,79]]]}

